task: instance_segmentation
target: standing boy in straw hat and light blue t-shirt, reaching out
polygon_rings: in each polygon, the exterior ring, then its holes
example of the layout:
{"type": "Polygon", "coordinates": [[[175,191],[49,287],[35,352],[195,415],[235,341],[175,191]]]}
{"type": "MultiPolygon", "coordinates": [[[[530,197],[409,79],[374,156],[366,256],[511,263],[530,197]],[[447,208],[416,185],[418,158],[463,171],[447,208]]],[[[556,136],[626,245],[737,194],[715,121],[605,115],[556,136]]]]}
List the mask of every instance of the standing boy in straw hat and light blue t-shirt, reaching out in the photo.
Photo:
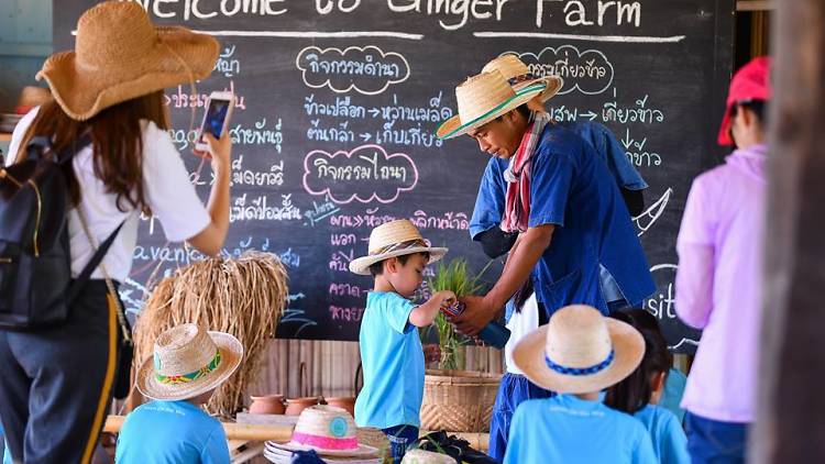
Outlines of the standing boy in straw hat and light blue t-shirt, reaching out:
{"type": "Polygon", "coordinates": [[[421,285],[427,264],[446,253],[447,248],[429,246],[418,229],[402,219],[375,228],[369,255],[350,263],[353,273],[375,279],[361,320],[364,388],[355,401],[355,423],[381,429],[395,462],[418,440],[424,351],[417,328],[431,324],[455,295],[439,291],[419,306],[408,298],[421,285]]]}

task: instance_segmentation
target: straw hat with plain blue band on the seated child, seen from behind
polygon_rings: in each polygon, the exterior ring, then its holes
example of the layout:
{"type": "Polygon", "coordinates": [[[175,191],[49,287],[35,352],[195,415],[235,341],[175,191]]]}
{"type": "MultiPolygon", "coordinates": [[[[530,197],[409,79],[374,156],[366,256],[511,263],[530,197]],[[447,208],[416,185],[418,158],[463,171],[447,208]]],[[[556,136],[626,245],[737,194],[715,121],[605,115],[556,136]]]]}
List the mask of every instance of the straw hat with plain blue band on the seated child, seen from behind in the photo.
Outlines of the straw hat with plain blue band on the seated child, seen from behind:
{"type": "Polygon", "coordinates": [[[641,363],[645,340],[631,325],[596,309],[562,308],[516,345],[513,361],[534,384],[557,393],[601,391],[641,363]]]}

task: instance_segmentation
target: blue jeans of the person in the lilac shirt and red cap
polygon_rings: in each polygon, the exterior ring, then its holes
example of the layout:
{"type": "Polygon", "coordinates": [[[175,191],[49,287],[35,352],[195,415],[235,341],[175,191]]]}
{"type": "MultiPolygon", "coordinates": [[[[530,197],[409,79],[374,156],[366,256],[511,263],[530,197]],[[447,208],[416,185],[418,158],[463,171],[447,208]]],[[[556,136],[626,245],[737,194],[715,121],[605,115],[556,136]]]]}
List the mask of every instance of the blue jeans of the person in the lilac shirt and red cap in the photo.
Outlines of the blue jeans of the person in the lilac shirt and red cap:
{"type": "Polygon", "coordinates": [[[688,453],[693,464],[744,464],[748,423],[722,422],[688,412],[688,453]]]}

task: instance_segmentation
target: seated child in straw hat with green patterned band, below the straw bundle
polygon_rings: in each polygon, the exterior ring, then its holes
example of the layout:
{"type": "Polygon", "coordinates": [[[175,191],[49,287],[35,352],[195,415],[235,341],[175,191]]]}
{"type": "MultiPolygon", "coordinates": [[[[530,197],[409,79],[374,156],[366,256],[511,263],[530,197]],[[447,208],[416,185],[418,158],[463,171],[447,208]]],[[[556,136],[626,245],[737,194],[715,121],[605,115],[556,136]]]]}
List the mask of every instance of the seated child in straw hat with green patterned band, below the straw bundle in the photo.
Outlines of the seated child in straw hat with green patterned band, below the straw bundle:
{"type": "Polygon", "coordinates": [[[227,434],[201,406],[240,366],[243,345],[222,332],[183,324],[163,332],[138,372],[138,389],[153,399],[120,430],[118,464],[228,464],[227,434]]]}

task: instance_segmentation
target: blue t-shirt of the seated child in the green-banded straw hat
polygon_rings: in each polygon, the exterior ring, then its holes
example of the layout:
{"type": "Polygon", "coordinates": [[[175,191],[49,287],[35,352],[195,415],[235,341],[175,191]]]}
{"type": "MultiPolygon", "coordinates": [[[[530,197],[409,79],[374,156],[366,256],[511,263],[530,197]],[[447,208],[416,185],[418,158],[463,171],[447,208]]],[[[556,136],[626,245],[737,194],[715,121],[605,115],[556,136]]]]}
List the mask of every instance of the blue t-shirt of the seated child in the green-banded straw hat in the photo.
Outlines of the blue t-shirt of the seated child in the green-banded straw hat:
{"type": "Polygon", "coordinates": [[[151,401],[127,416],[118,464],[229,463],[221,423],[189,401],[151,401]]]}

